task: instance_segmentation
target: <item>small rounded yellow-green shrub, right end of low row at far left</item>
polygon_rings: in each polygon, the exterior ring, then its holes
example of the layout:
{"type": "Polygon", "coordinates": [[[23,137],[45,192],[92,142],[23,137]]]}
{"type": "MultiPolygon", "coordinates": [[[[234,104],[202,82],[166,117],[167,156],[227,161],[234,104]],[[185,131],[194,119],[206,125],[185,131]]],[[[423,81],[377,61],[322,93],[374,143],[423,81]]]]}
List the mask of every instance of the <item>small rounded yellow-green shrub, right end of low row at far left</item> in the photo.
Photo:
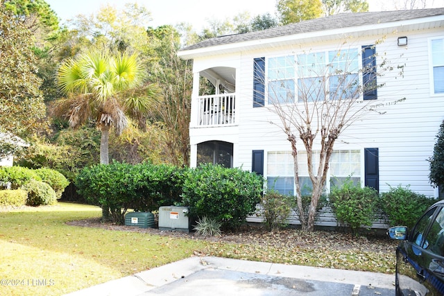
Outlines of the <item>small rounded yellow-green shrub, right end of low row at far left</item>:
{"type": "Polygon", "coordinates": [[[38,207],[40,205],[56,204],[56,191],[54,191],[49,184],[31,180],[22,189],[28,192],[26,204],[31,207],[38,207]]]}

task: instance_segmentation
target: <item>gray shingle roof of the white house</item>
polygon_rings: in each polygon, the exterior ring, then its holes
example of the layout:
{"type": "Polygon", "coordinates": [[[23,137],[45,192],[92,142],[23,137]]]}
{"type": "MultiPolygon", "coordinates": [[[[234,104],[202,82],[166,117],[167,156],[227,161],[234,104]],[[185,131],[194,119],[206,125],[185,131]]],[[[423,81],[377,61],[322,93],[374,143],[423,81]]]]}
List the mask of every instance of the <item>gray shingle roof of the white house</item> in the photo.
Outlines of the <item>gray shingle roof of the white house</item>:
{"type": "Polygon", "coordinates": [[[205,49],[212,46],[221,46],[224,44],[234,44],[239,42],[250,42],[254,40],[263,40],[274,37],[283,37],[288,35],[297,35],[302,33],[314,33],[318,31],[327,31],[334,29],[352,28],[374,24],[391,23],[394,21],[407,21],[423,17],[434,17],[444,15],[444,8],[429,8],[416,10],[395,10],[378,12],[359,12],[359,13],[341,13],[339,15],[330,15],[318,19],[309,19],[287,26],[278,26],[263,31],[255,31],[244,34],[225,35],[203,40],[181,50],[193,51],[196,49],[205,49]]]}

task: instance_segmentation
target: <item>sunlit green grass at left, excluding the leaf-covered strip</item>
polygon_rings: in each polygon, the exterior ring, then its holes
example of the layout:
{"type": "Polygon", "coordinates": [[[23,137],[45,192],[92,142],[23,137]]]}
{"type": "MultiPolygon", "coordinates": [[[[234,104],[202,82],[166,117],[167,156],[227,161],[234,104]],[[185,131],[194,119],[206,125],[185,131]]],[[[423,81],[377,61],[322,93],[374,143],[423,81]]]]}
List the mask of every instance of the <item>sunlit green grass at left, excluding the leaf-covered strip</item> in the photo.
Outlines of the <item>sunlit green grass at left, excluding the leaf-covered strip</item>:
{"type": "Polygon", "coordinates": [[[62,295],[187,258],[201,241],[75,227],[99,207],[59,202],[0,213],[0,295],[62,295]]]}

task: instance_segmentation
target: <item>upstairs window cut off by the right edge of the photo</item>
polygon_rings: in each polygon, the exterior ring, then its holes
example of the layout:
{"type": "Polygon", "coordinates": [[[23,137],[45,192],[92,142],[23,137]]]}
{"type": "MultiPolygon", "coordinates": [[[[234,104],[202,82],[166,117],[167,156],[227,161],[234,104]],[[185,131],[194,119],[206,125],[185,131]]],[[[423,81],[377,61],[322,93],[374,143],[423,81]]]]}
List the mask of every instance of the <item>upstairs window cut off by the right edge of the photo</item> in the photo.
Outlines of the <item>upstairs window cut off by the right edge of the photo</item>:
{"type": "Polygon", "coordinates": [[[444,38],[430,40],[434,94],[444,94],[444,38]]]}

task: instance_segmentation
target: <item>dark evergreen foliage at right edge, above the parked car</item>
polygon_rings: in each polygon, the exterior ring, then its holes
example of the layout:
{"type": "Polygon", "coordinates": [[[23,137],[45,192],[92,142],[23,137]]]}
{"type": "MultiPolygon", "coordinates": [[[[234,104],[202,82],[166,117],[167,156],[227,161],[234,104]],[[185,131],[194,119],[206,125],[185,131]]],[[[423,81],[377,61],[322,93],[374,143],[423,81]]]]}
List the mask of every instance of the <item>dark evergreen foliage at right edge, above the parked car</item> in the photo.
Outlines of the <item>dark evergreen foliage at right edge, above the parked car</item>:
{"type": "Polygon", "coordinates": [[[429,162],[430,182],[442,190],[444,186],[444,121],[441,123],[438,135],[436,136],[433,156],[429,158],[429,162]]]}

